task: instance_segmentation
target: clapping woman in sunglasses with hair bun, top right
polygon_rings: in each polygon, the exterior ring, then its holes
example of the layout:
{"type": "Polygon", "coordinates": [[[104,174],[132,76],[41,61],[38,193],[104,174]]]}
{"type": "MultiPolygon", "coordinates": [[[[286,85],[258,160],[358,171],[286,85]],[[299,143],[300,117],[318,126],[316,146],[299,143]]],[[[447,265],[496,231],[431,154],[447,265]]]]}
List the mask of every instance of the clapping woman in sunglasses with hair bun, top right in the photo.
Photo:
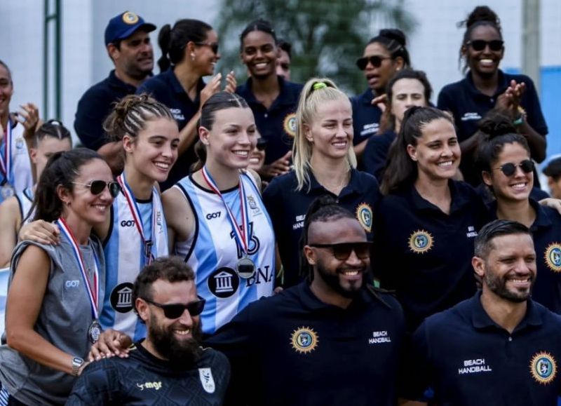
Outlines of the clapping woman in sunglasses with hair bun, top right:
{"type": "Polygon", "coordinates": [[[477,186],[480,174],[475,169],[478,121],[487,111],[497,109],[508,116],[516,132],[526,138],[532,159],[541,162],[546,156],[548,128],[543,119],[532,79],[525,75],[506,74],[499,69],[504,45],[501,24],[487,6],[476,7],[467,20],[459,59],[466,77],[440,91],[438,108],[450,111],[458,131],[462,152],[461,172],[466,182],[477,186]]]}

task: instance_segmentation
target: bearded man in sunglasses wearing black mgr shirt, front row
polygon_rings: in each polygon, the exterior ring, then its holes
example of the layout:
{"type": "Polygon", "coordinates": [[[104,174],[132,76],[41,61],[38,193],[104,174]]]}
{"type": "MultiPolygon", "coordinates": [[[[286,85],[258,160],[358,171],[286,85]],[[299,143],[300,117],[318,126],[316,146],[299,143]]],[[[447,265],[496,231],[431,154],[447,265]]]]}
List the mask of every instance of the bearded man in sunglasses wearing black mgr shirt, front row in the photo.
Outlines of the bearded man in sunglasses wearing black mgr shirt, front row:
{"type": "MultiPolygon", "coordinates": [[[[153,405],[163,399],[222,405],[230,367],[222,353],[201,346],[205,300],[196,294],[194,277],[179,257],[160,257],[142,269],[130,293],[147,338],[123,350],[128,337],[105,332],[119,337],[121,350],[114,353],[120,356],[108,352],[88,365],[67,405],[153,405]]],[[[104,346],[104,337],[100,341],[104,346]]]]}

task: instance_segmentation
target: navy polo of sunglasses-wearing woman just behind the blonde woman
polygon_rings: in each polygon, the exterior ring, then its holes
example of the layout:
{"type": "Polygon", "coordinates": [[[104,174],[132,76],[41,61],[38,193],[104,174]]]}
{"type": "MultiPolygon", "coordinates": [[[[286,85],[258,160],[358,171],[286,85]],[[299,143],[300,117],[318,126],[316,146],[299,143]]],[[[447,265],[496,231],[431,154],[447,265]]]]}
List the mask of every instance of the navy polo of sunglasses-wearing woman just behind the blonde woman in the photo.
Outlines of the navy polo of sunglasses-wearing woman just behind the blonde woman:
{"type": "Polygon", "coordinates": [[[380,127],[381,110],[372,104],[374,93],[367,88],[365,93],[351,97],[353,107],[353,144],[360,144],[371,135],[378,132],[380,127]]]}

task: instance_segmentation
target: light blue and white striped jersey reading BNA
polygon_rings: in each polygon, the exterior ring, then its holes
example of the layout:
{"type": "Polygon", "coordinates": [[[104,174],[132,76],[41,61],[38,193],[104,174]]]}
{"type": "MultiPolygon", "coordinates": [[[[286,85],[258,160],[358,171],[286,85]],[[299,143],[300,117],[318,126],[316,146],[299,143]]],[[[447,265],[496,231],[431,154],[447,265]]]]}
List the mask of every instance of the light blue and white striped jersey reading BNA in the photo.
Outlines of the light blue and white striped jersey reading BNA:
{"type": "MultiPolygon", "coordinates": [[[[198,295],[206,299],[201,314],[203,332],[212,334],[263,296],[271,296],[275,278],[275,237],[269,214],[250,175],[241,175],[248,200],[248,257],[255,264],[251,278],[241,278],[236,263],[243,251],[236,241],[222,199],[184,177],[174,187],[182,191],[195,217],[194,233],[175,244],[175,254],[184,257],[195,271],[198,295]]],[[[221,191],[224,201],[241,224],[238,187],[221,191]]]]}

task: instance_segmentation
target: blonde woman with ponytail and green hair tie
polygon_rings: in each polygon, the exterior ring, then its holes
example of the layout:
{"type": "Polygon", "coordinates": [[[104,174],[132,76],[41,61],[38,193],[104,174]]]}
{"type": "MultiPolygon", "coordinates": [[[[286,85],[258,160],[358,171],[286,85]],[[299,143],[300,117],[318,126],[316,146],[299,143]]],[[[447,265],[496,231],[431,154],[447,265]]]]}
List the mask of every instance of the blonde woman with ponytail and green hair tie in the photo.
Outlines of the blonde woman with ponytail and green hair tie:
{"type": "Polygon", "coordinates": [[[294,170],[273,179],[263,198],[273,221],[283,266],[280,284],[301,280],[299,264],[304,216],[311,202],[328,194],[356,213],[369,239],[378,182],[356,170],[353,111],[349,97],[330,79],[310,79],[300,96],[292,157],[294,170]]]}

